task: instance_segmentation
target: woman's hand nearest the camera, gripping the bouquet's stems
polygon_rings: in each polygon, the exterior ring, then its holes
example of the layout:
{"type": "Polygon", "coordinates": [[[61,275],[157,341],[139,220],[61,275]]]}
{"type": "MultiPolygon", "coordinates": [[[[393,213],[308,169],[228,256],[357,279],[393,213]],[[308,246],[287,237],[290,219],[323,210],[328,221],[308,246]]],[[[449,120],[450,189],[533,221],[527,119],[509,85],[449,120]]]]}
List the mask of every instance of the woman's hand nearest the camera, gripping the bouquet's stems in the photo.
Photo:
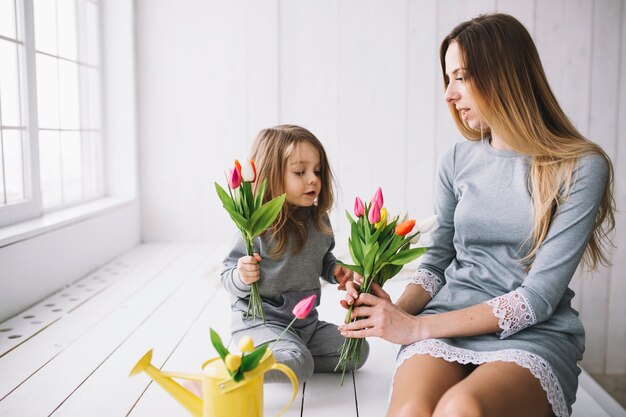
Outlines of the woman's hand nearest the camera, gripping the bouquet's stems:
{"type": "MultiPolygon", "coordinates": [[[[374,285],[376,284],[372,284],[372,293],[374,285]]],[[[382,288],[378,288],[384,292],[382,288]]],[[[420,319],[406,313],[388,298],[361,294],[352,310],[352,317],[358,317],[360,320],[339,326],[339,331],[344,337],[376,336],[403,345],[423,339],[420,333],[420,319]]]]}

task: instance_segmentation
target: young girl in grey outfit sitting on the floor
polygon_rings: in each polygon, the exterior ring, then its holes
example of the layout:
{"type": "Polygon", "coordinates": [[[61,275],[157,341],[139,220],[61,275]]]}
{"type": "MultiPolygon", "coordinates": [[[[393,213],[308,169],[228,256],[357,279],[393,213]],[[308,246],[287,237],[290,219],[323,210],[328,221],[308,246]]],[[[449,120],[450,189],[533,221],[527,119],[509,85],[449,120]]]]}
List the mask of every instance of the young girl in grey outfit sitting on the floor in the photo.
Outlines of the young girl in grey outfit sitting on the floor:
{"type": "MultiPolygon", "coordinates": [[[[333,177],[320,141],[299,126],[282,125],[262,130],[251,158],[257,167],[256,183],[267,179],[265,199],[286,193],[278,218],[255,239],[254,256],[246,256],[242,239],[224,260],[221,280],[231,294],[231,331],[235,340],[250,336],[256,344],[272,342],[293,319],[292,309],[312,294],[320,299],[320,277],[344,288],[352,272],[338,266],[328,212],[333,205],[333,177]],[[250,284],[258,282],[265,322],[247,317],[250,284]]],[[[289,366],[300,382],[313,372],[333,372],[344,338],[337,326],[318,320],[315,309],[272,346],[277,362],[289,366]]],[[[361,354],[363,365],[368,347],[361,354]]],[[[269,372],[265,379],[282,379],[269,372]]]]}

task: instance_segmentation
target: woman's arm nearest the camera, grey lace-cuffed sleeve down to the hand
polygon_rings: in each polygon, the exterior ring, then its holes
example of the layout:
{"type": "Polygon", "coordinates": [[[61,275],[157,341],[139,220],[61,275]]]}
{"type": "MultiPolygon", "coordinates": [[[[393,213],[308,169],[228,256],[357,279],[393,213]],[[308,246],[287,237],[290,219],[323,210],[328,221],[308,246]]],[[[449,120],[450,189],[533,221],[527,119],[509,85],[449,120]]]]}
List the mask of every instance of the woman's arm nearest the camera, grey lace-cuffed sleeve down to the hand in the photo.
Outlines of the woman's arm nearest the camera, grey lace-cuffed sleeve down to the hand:
{"type": "Polygon", "coordinates": [[[548,319],[563,297],[593,233],[606,179],[607,166],[600,156],[581,159],[572,190],[559,206],[532,268],[518,289],[482,304],[418,317],[410,316],[388,300],[361,294],[353,316],[363,319],[341,326],[342,334],[378,336],[403,344],[500,331],[505,338],[548,319]],[[503,306],[516,305],[523,306],[524,316],[514,326],[509,320],[519,317],[503,306]]]}

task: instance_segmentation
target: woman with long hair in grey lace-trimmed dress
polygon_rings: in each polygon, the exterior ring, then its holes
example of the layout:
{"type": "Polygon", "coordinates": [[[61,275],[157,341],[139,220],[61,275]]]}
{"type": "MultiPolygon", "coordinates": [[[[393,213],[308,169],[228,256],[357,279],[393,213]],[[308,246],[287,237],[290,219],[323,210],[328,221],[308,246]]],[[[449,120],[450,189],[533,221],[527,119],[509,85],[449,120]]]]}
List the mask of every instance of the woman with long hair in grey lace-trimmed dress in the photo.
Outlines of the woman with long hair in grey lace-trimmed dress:
{"type": "Polygon", "coordinates": [[[340,330],[403,345],[389,416],[567,416],[584,350],[568,284],[581,259],[608,263],[611,162],[565,116],[515,18],[461,23],[440,59],[469,141],[440,160],[434,243],[395,304],[348,284],[360,320],[340,330]]]}

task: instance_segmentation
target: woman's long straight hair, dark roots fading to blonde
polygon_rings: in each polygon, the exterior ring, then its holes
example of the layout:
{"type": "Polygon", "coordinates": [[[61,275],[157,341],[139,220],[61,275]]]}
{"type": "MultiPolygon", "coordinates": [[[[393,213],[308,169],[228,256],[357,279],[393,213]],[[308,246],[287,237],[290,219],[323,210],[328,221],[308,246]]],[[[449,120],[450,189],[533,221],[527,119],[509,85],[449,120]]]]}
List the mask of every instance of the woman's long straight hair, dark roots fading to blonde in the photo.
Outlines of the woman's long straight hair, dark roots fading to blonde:
{"type": "MultiPolygon", "coordinates": [[[[531,158],[528,187],[533,202],[533,227],[530,250],[522,259],[528,269],[556,209],[569,194],[579,159],[589,154],[604,157],[609,171],[582,262],[589,270],[597,269],[599,263],[610,265],[607,245],[612,243],[608,234],[615,228],[611,161],[602,148],[574,127],[559,106],[526,28],[506,14],[482,15],[459,24],[440,48],[445,88],[450,82],[445,55],[452,42],[461,51],[463,78],[482,118],[511,148],[531,158]]],[[[463,136],[481,140],[482,129],[470,128],[454,104],[449,107],[463,136]]]]}

